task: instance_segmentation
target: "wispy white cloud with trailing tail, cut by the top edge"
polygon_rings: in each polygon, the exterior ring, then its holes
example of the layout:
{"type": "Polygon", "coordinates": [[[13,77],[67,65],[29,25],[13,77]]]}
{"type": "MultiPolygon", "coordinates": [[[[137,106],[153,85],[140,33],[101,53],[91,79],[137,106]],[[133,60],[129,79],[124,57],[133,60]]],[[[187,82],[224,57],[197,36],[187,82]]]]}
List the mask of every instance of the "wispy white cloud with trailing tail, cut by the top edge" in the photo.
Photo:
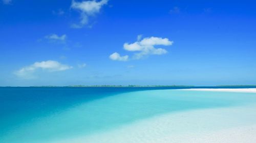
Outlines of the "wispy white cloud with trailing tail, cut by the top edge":
{"type": "Polygon", "coordinates": [[[82,2],[76,2],[75,0],[73,0],[71,8],[80,12],[80,23],[73,24],[72,27],[81,28],[84,25],[88,24],[89,17],[95,16],[97,13],[99,13],[102,6],[106,4],[108,4],[108,0],[101,0],[99,2],[97,2],[96,0],[82,2]]]}

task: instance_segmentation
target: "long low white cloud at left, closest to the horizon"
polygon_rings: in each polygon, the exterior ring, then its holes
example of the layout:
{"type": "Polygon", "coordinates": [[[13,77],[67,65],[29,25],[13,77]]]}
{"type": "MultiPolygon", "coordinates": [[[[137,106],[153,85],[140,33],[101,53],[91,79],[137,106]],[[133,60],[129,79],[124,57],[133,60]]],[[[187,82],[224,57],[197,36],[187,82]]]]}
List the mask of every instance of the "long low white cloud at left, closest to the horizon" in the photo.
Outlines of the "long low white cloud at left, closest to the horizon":
{"type": "Polygon", "coordinates": [[[65,71],[71,69],[71,66],[60,64],[57,61],[42,61],[35,62],[30,66],[23,67],[14,72],[14,74],[21,78],[35,78],[33,75],[37,70],[43,70],[46,72],[65,71]]]}

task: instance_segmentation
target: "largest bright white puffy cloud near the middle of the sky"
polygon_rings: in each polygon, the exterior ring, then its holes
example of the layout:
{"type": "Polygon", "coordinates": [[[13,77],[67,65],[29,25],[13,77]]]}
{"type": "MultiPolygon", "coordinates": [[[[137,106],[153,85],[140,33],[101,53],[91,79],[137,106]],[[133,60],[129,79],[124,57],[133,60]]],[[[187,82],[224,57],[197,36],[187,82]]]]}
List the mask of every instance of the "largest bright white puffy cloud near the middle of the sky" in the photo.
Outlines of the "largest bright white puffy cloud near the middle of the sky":
{"type": "MultiPolygon", "coordinates": [[[[140,37],[140,36],[138,36],[140,37]]],[[[137,39],[141,39],[137,38],[137,39]]],[[[169,41],[167,38],[159,38],[159,37],[147,37],[142,40],[138,40],[134,43],[124,43],[123,48],[127,51],[139,51],[138,53],[134,54],[135,59],[140,59],[144,55],[149,54],[165,54],[167,50],[163,48],[156,48],[155,46],[162,45],[162,46],[170,46],[173,44],[173,41],[169,41]]]]}

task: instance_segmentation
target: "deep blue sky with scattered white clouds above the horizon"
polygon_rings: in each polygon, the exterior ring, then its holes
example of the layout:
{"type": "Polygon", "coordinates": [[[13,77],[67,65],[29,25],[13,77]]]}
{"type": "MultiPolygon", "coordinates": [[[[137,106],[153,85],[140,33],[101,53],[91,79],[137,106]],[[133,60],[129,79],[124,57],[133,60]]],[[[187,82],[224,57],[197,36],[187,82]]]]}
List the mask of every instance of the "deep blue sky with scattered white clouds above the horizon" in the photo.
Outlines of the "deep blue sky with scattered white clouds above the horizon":
{"type": "Polygon", "coordinates": [[[255,5],[2,0],[0,86],[256,84],[255,5]]]}

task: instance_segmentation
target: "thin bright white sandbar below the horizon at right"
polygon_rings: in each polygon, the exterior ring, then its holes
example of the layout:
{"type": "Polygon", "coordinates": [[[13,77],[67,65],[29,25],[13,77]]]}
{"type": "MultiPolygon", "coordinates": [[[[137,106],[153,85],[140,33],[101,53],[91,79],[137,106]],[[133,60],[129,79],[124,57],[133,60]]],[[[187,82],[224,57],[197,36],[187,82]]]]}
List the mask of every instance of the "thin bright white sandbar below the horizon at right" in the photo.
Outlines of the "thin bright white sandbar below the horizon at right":
{"type": "Polygon", "coordinates": [[[256,89],[182,89],[183,91],[242,92],[256,93],[256,89]]]}

